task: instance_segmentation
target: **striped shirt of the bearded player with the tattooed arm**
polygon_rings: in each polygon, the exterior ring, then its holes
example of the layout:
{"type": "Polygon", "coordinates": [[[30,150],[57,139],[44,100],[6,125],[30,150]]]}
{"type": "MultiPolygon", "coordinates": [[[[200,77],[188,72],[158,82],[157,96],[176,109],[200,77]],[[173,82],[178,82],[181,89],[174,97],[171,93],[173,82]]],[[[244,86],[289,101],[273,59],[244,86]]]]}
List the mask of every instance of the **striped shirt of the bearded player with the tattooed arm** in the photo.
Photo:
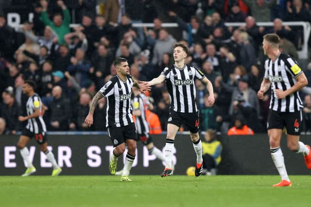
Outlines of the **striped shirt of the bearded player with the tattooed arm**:
{"type": "Polygon", "coordinates": [[[125,82],[117,75],[99,90],[107,98],[106,127],[124,127],[134,122],[131,106],[133,84],[131,75],[126,76],[125,82]]]}

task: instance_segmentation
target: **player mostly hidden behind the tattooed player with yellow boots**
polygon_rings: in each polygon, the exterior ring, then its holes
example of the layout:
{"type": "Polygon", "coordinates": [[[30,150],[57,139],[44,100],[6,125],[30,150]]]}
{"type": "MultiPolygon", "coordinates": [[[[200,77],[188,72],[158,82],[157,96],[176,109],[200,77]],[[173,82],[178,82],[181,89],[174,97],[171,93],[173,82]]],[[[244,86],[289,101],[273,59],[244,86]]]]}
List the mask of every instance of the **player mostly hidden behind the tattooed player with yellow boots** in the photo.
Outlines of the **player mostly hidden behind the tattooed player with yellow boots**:
{"type": "MultiPolygon", "coordinates": [[[[147,108],[153,108],[153,105],[149,102],[148,98],[140,93],[139,89],[133,86],[132,108],[133,115],[135,116],[135,127],[138,133],[138,140],[145,145],[150,154],[155,155],[157,159],[164,161],[164,156],[158,148],[155,147],[152,137],[149,135],[149,123],[146,119],[147,108]]],[[[116,172],[116,175],[121,175],[123,170],[116,172]]]]}

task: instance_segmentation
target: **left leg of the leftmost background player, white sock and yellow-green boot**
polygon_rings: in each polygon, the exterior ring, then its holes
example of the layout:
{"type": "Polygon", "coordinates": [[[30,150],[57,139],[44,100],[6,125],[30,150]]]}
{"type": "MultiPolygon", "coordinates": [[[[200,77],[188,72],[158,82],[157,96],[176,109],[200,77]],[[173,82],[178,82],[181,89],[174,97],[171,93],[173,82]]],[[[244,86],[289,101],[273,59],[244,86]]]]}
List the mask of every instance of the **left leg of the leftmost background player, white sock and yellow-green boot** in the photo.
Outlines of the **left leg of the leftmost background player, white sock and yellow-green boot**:
{"type": "Polygon", "coordinates": [[[25,160],[27,163],[27,169],[22,176],[31,175],[31,174],[35,173],[35,171],[36,171],[32,161],[29,157],[29,150],[26,147],[26,145],[30,141],[30,137],[32,137],[31,132],[28,130],[24,130],[22,132],[22,135],[20,135],[19,140],[17,142],[17,148],[19,149],[20,155],[23,158],[23,160],[25,160]]]}

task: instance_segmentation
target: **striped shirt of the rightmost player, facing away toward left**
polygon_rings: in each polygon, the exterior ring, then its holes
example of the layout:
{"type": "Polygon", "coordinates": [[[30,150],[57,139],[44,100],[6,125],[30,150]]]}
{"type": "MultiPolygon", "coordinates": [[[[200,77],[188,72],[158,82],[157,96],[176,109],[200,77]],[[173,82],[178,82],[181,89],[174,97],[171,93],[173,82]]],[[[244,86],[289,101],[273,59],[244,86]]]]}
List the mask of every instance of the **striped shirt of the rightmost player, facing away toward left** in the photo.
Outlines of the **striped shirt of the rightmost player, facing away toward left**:
{"type": "Polygon", "coordinates": [[[303,71],[289,55],[280,53],[274,62],[270,58],[265,61],[264,78],[271,82],[270,109],[278,112],[300,111],[303,107],[299,92],[277,99],[275,89],[288,90],[297,82],[295,79],[303,71]]]}

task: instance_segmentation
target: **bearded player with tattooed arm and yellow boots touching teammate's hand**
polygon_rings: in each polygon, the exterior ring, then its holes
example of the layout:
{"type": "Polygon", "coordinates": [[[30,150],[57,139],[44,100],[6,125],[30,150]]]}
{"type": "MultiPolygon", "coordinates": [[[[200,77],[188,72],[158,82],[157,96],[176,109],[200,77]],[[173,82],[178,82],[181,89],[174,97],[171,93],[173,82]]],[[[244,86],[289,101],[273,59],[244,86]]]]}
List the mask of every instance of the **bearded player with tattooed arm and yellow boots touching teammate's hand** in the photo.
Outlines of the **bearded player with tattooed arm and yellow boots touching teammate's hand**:
{"type": "Polygon", "coordinates": [[[150,90],[150,87],[146,83],[138,84],[138,81],[129,75],[130,68],[126,59],[116,58],[113,65],[117,69],[117,75],[106,82],[93,97],[85,123],[88,126],[93,124],[93,113],[97,102],[105,97],[107,103],[106,127],[109,138],[115,147],[110,157],[109,172],[112,175],[116,174],[118,157],[125,151],[124,142],[126,142],[128,152],[121,181],[131,181],[128,175],[135,159],[137,142],[131,107],[132,87],[136,85],[141,92],[150,90]]]}

